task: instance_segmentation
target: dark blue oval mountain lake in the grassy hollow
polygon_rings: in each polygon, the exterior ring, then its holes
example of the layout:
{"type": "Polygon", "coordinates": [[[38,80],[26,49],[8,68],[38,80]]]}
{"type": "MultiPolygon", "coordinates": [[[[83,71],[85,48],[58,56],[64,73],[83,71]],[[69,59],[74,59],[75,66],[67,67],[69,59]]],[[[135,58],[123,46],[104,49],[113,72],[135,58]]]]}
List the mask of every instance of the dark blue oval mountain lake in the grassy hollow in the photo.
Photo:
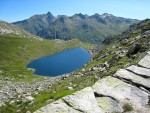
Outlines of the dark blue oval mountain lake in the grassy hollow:
{"type": "Polygon", "coordinates": [[[27,68],[35,69],[34,74],[58,76],[81,68],[90,60],[90,54],[83,48],[74,48],[32,60],[27,68]]]}

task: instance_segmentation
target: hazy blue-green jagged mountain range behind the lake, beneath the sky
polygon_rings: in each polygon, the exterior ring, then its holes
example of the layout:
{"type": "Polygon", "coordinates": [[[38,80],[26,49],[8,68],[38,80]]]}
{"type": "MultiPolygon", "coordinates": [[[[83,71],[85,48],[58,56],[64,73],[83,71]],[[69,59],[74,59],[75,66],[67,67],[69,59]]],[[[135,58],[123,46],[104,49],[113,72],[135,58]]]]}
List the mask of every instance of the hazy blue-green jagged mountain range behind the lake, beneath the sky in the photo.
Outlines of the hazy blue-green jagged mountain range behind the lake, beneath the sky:
{"type": "Polygon", "coordinates": [[[75,14],[73,16],[58,15],[50,12],[34,15],[29,19],[14,22],[14,25],[46,39],[79,39],[83,42],[101,43],[107,36],[121,34],[131,24],[139,20],[116,17],[104,13],[102,15],[75,14]]]}

